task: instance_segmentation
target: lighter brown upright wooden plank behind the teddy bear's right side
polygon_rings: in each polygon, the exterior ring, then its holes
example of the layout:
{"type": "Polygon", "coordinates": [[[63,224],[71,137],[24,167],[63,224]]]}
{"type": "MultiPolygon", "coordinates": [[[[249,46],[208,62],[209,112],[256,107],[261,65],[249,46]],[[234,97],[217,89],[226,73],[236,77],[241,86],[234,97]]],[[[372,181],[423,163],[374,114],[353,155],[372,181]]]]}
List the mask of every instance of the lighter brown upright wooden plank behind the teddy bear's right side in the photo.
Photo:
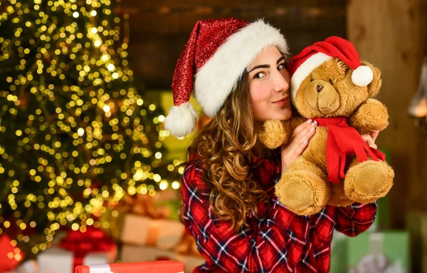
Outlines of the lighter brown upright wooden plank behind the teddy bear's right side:
{"type": "Polygon", "coordinates": [[[362,58],[382,71],[378,98],[389,108],[390,125],[380,134],[380,148],[391,151],[396,172],[391,189],[391,227],[403,228],[408,210],[427,210],[427,138],[408,118],[418,86],[426,43],[425,0],[349,1],[347,36],[362,58]]]}

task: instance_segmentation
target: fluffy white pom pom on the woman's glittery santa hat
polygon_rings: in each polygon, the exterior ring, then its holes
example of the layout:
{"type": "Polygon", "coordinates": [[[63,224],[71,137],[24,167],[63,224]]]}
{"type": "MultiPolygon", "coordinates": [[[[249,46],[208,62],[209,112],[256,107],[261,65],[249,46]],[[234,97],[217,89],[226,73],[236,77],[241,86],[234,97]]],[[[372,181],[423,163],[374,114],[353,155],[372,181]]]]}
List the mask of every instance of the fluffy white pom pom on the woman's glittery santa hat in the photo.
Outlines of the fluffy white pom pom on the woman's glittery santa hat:
{"type": "Polygon", "coordinates": [[[164,119],[164,128],[177,138],[184,138],[196,127],[197,113],[191,103],[172,106],[164,119]]]}

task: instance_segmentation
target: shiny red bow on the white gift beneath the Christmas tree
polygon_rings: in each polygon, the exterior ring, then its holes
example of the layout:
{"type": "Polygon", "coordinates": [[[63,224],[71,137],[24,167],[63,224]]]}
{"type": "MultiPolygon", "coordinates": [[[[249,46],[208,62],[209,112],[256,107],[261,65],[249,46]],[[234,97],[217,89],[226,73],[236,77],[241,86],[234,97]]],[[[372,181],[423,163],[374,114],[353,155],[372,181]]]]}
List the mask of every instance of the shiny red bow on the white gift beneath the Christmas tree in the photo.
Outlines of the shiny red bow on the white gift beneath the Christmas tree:
{"type": "Polygon", "coordinates": [[[117,252],[114,241],[93,226],[87,226],[85,232],[70,230],[67,237],[60,241],[60,247],[73,252],[73,268],[82,265],[83,259],[90,252],[109,252],[112,256],[117,252]]]}

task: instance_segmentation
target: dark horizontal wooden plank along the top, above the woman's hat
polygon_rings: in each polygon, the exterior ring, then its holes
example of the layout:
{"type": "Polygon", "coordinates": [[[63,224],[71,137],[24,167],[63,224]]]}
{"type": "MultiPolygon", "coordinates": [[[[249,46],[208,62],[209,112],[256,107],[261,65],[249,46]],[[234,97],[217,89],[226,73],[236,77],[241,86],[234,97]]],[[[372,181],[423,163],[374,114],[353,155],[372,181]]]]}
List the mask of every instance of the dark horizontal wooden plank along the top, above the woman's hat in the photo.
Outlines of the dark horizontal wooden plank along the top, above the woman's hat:
{"type": "Polygon", "coordinates": [[[259,17],[280,28],[319,29],[344,24],[342,1],[122,1],[120,13],[130,14],[132,36],[188,34],[199,19],[259,17]]]}

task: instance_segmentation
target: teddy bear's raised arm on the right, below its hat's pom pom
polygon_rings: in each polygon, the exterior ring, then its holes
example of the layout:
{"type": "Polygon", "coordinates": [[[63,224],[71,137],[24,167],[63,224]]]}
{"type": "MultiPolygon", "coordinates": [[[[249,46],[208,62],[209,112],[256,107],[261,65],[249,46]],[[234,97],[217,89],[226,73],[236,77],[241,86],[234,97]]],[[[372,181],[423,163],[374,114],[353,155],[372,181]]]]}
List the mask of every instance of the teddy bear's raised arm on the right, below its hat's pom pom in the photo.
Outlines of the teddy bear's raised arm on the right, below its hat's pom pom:
{"type": "Polygon", "coordinates": [[[361,134],[384,130],[389,125],[389,113],[383,103],[369,98],[350,116],[349,125],[361,134]]]}

